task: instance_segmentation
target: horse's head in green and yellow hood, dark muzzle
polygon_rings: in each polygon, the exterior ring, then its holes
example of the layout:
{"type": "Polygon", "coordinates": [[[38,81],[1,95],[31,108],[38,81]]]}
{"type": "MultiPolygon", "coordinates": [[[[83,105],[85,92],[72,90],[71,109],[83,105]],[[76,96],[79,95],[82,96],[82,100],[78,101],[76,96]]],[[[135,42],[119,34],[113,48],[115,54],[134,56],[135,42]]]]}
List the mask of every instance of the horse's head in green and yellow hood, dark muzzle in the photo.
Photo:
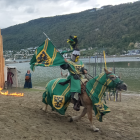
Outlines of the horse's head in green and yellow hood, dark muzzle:
{"type": "Polygon", "coordinates": [[[107,75],[107,85],[109,88],[113,89],[116,88],[119,91],[127,90],[127,86],[123,81],[120,79],[120,77],[116,76],[112,72],[109,72],[108,70],[104,69],[106,75],[107,75]]]}

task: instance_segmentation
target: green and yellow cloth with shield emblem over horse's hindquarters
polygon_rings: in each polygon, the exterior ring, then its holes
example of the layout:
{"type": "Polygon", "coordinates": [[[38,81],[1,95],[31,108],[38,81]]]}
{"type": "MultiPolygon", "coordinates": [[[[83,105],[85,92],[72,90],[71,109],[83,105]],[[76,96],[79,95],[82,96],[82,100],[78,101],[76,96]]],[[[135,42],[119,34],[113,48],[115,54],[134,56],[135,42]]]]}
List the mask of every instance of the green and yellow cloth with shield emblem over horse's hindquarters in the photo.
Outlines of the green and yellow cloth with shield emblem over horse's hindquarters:
{"type": "Polygon", "coordinates": [[[49,104],[52,110],[56,110],[61,115],[65,115],[65,111],[71,101],[70,84],[60,85],[66,79],[58,78],[50,81],[43,93],[42,102],[49,104]]]}

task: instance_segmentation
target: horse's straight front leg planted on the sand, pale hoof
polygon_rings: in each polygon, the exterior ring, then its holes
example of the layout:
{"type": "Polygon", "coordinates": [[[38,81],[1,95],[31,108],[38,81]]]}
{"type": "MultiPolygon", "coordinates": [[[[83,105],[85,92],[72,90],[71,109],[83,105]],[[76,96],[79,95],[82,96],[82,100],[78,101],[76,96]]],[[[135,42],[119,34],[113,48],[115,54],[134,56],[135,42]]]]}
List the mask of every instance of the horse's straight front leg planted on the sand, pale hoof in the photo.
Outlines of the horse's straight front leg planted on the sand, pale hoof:
{"type": "Polygon", "coordinates": [[[93,121],[92,121],[92,106],[87,106],[87,115],[88,115],[88,119],[90,121],[90,126],[91,126],[92,130],[94,132],[98,132],[99,128],[96,128],[96,126],[93,125],[93,121]]]}

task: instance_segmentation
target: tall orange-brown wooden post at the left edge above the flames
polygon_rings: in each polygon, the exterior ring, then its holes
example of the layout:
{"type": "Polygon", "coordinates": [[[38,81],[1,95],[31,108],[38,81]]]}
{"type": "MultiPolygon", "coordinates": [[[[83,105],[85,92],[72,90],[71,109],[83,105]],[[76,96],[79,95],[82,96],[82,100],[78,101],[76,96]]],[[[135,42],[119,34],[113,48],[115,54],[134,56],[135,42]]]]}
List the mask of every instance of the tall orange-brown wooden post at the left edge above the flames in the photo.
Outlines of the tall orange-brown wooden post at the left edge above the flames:
{"type": "Polygon", "coordinates": [[[1,35],[1,29],[0,29],[0,87],[4,88],[4,66],[5,66],[5,60],[3,58],[3,40],[1,35]]]}

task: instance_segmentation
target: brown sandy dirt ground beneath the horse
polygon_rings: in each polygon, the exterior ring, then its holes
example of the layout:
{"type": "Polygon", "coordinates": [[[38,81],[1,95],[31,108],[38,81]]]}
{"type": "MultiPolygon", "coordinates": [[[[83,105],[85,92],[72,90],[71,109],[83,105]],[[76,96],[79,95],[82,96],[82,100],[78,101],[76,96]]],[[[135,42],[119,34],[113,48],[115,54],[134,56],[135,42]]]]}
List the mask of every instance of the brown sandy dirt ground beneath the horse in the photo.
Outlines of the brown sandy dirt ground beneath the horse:
{"type": "Polygon", "coordinates": [[[122,95],[122,102],[107,101],[111,112],[103,122],[93,119],[99,132],[90,129],[87,115],[77,122],[68,122],[69,116],[80,112],[70,104],[62,116],[43,103],[42,89],[12,89],[24,92],[24,97],[0,95],[0,140],[140,140],[140,96],[122,95]]]}

